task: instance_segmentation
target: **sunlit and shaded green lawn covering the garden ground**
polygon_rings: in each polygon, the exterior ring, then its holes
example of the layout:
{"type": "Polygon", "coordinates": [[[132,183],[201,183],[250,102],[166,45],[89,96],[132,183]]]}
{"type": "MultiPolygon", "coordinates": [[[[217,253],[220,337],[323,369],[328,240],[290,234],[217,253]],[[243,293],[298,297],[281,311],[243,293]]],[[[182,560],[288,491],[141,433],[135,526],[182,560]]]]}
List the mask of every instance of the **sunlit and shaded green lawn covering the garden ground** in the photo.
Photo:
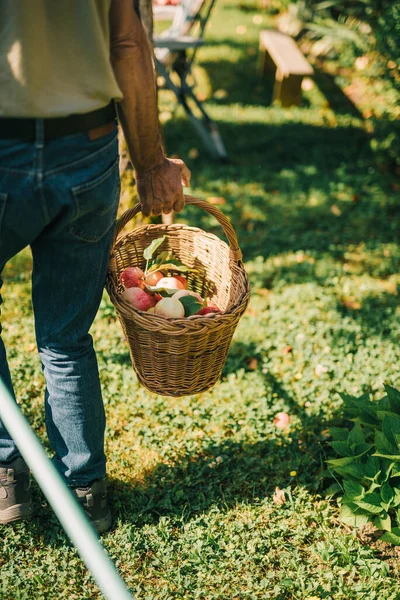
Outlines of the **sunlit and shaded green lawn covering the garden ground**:
{"type": "MultiPolygon", "coordinates": [[[[92,333],[115,527],[103,543],[142,600],[400,599],[398,549],[342,525],[323,476],[340,393],[400,386],[400,184],[367,112],[383,119],[391,106],[394,118],[394,92],[368,70],[335,78],[327,63],[301,107],[271,106],[257,71],[271,17],[243,8],[219,1],[199,53],[230,164],[208,159],[179,111],[169,118],[167,92],[161,109],[190,193],[218,198],[234,224],[252,300],[218,384],[174,399],[139,386],[104,296],[92,333]],[[273,422],[282,411],[286,432],[273,422]]],[[[179,219],[223,235],[192,207],[179,219]]],[[[48,448],[30,264],[25,251],[6,267],[2,322],[18,399],[48,448]]],[[[34,494],[37,518],[1,529],[1,600],[100,598],[34,494]]]]}

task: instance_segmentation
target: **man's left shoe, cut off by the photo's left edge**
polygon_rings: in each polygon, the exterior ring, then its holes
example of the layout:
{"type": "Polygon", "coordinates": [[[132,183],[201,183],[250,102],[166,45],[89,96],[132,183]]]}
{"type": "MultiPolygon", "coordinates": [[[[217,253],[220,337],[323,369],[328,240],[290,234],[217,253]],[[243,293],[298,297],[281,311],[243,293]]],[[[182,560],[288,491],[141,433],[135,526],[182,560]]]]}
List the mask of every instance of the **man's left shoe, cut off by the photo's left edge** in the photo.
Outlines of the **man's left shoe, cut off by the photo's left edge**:
{"type": "Polygon", "coordinates": [[[0,524],[32,516],[29,468],[23,458],[0,463],[0,524]]]}

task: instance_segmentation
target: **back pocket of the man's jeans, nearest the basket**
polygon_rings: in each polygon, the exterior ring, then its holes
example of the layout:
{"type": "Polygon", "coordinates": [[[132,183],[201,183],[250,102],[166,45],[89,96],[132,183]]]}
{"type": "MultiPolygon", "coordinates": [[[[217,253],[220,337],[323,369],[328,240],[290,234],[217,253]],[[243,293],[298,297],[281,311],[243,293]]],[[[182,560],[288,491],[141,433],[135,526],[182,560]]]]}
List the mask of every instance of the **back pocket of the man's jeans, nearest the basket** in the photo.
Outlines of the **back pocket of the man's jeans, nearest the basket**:
{"type": "Polygon", "coordinates": [[[70,233],[84,242],[98,242],[115,223],[120,191],[119,158],[99,177],[71,191],[76,213],[70,233]]]}

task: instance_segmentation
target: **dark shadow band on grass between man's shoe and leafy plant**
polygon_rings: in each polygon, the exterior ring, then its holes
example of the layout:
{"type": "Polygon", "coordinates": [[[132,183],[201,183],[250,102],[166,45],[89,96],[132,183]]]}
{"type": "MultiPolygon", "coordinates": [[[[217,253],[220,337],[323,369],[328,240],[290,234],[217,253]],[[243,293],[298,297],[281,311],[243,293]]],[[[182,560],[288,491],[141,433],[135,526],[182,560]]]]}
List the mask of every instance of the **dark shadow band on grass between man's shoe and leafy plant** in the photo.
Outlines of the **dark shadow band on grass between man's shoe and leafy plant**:
{"type": "Polygon", "coordinates": [[[296,482],[315,492],[321,485],[316,473],[323,466],[318,438],[323,439],[307,419],[303,430],[290,437],[278,434],[256,443],[228,438],[172,465],[158,464],[143,483],[112,480],[111,502],[121,521],[140,527],[165,515],[187,522],[212,507],[257,502],[271,497],[277,486],[282,489],[296,482]],[[290,475],[294,470],[298,477],[290,475]]]}

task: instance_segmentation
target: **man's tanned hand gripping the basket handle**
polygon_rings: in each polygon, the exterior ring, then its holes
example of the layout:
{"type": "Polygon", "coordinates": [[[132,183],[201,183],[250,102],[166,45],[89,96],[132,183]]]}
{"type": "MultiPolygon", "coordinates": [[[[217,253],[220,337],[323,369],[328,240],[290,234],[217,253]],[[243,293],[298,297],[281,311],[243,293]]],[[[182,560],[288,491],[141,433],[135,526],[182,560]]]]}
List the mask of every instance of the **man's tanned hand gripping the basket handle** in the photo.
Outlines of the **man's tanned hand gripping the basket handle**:
{"type": "Polygon", "coordinates": [[[145,217],[180,212],[185,206],[182,186],[190,185],[191,173],[183,160],[164,158],[148,173],[137,174],[137,190],[145,217]]]}

